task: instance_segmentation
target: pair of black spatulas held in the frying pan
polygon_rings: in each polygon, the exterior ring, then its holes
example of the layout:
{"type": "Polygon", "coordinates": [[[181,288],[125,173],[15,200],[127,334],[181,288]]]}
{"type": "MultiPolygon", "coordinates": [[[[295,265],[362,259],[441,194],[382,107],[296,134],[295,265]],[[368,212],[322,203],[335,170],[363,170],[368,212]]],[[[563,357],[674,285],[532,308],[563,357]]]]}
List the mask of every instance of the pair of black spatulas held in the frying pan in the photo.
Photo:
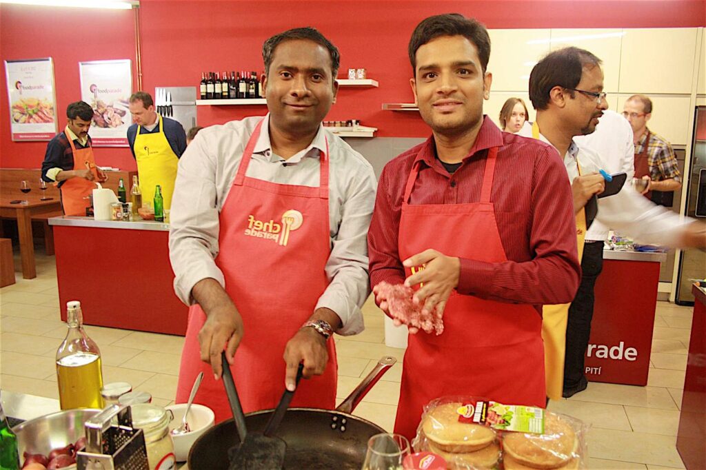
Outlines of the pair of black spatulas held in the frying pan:
{"type": "MultiPolygon", "coordinates": [[[[245,416],[240,406],[237,391],[235,390],[235,382],[230,373],[228,362],[225,358],[225,352],[222,354],[223,362],[223,382],[225,383],[226,393],[230,402],[233,418],[238,428],[240,436],[240,445],[236,445],[228,450],[229,470],[280,470],[285,463],[285,452],[287,452],[287,444],[280,438],[273,438],[260,433],[248,433],[245,426],[245,416]]],[[[299,366],[297,373],[297,384],[301,378],[302,366],[299,366]]],[[[292,400],[294,392],[285,392],[282,395],[280,404],[275,410],[275,414],[268,422],[268,430],[274,432],[282,421],[289,402],[292,400]],[[280,414],[277,411],[280,408],[280,414]],[[275,419],[276,416],[279,418],[275,419]],[[270,426],[271,425],[271,426],[270,426]]],[[[267,433],[267,430],[265,430],[267,433]]]]}

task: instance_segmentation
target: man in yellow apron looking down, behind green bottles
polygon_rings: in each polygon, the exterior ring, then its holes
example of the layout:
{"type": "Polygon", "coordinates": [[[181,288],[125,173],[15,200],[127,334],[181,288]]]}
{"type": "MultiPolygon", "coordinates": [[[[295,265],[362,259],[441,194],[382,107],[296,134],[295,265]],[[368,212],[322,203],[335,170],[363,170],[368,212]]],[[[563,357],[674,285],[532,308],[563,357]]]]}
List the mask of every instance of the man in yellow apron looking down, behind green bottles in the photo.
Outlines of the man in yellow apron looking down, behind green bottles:
{"type": "Polygon", "coordinates": [[[137,160],[143,201],[155,196],[155,186],[162,186],[164,209],[172,205],[174,180],[179,157],[186,150],[186,133],[178,121],[155,112],[152,96],[136,92],[130,97],[133,125],[128,128],[128,143],[137,160]]]}

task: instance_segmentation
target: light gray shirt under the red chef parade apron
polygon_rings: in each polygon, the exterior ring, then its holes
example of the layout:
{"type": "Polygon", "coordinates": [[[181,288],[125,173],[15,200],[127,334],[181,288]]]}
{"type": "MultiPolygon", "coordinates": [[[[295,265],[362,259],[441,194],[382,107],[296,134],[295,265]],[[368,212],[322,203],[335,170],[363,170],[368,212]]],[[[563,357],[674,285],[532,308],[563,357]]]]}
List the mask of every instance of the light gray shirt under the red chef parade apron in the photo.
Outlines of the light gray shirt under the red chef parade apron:
{"type": "MultiPolygon", "coordinates": [[[[174,291],[186,304],[201,279],[225,287],[215,264],[219,214],[232,187],[241,157],[261,116],[230,121],[201,130],[179,159],[170,212],[169,259],[174,291]]],[[[376,179],[371,164],[345,141],[319,127],[301,152],[285,160],[274,155],[265,116],[246,176],[273,183],[319,186],[319,155],[329,151],[329,220],[331,253],[325,266],[330,284],[316,308],[330,308],[342,320],[340,335],[364,329],[361,306],[370,294],[366,237],[375,204],[376,179]]],[[[253,289],[268,289],[267,279],[254,279],[253,289]]],[[[237,299],[233,299],[237,305],[237,299]]]]}

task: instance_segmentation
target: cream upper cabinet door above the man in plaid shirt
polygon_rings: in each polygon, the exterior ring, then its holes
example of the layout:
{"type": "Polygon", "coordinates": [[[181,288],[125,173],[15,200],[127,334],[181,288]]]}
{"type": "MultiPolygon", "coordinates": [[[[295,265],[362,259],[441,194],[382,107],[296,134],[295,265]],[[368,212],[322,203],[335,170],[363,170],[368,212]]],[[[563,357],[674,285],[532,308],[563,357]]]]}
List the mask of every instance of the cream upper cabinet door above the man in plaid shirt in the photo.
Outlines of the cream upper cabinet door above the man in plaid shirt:
{"type": "Polygon", "coordinates": [[[621,93],[691,92],[696,28],[623,31],[621,93]]]}

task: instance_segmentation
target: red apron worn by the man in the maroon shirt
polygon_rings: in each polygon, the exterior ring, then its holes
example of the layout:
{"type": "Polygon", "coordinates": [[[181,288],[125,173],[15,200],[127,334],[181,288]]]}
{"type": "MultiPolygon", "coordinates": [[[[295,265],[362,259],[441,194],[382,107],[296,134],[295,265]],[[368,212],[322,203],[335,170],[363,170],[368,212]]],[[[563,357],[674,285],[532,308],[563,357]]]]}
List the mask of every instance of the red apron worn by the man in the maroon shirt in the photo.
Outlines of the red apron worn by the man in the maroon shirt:
{"type": "MultiPolygon", "coordinates": [[[[488,263],[506,261],[490,202],[498,148],[488,152],[479,203],[410,205],[415,165],[402,201],[400,259],[427,248],[488,263]]],[[[405,268],[406,275],[411,271],[405,268]]],[[[453,291],[441,335],[409,335],[395,433],[412,438],[422,407],[450,394],[503,404],[545,406],[542,316],[530,305],[501,303],[453,291]]]]}

